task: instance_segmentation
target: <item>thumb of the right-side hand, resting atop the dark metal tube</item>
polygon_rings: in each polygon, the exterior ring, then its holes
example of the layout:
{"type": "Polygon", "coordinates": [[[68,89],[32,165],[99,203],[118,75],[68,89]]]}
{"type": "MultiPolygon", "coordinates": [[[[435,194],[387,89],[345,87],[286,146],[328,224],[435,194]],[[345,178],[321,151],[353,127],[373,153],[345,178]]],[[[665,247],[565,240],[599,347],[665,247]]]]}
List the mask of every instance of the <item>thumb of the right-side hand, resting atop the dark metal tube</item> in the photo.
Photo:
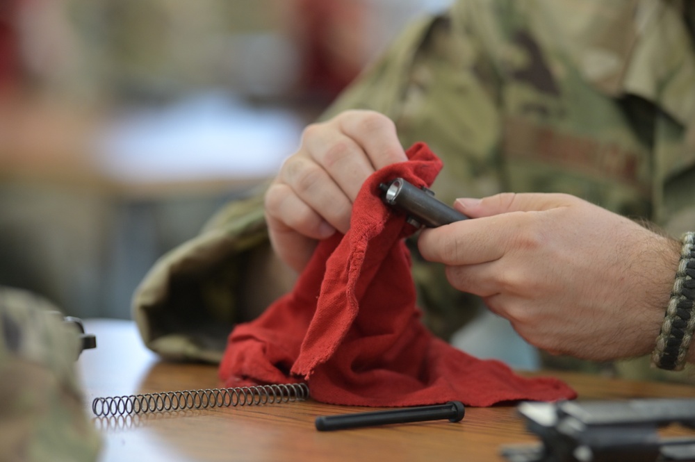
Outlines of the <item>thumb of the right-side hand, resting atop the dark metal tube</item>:
{"type": "Polygon", "coordinates": [[[576,200],[576,197],[559,193],[502,192],[482,199],[461,197],[456,199],[454,207],[471,218],[480,218],[509,212],[545,211],[569,206],[576,200]]]}

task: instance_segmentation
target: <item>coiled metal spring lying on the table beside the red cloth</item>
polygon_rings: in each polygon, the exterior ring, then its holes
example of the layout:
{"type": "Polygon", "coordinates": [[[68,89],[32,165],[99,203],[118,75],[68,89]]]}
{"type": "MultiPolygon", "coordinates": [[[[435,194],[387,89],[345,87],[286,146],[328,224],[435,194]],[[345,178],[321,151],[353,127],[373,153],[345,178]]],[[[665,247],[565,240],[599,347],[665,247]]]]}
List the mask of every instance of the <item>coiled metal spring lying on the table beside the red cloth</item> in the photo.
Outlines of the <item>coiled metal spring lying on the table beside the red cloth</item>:
{"type": "Polygon", "coordinates": [[[92,401],[92,412],[97,417],[108,417],[110,415],[275,404],[304,401],[308,397],[309,386],[306,386],[306,383],[206,388],[205,390],[97,397],[92,401]]]}

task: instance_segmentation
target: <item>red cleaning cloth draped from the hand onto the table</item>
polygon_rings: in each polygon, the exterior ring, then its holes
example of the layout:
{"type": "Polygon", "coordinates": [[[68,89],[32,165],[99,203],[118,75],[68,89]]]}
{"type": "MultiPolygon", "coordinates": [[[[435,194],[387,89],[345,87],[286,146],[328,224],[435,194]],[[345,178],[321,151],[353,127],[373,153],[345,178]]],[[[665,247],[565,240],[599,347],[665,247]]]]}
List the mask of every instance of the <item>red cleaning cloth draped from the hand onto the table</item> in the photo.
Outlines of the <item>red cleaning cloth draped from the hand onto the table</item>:
{"type": "Polygon", "coordinates": [[[407,154],[364,183],[350,231],[319,243],[293,291],[235,327],[220,378],[227,386],[306,381],[317,401],[358,406],[575,397],[557,379],[526,379],[461,352],[420,322],[404,242],[415,228],[382,202],[379,183],[400,176],[430,186],[441,161],[422,143],[407,154]]]}

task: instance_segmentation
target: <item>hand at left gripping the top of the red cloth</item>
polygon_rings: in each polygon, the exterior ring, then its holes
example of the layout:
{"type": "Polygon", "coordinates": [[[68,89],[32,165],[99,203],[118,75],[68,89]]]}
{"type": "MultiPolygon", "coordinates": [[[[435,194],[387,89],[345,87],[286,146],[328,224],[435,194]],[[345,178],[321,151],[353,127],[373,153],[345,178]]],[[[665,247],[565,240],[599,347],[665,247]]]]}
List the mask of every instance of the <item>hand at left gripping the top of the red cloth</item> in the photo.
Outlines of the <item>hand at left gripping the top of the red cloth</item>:
{"type": "Polygon", "coordinates": [[[301,272],[318,240],[350,228],[362,183],[380,168],[407,160],[395,125],[370,110],[348,110],[304,129],[265,192],[265,220],[276,254],[301,272]]]}

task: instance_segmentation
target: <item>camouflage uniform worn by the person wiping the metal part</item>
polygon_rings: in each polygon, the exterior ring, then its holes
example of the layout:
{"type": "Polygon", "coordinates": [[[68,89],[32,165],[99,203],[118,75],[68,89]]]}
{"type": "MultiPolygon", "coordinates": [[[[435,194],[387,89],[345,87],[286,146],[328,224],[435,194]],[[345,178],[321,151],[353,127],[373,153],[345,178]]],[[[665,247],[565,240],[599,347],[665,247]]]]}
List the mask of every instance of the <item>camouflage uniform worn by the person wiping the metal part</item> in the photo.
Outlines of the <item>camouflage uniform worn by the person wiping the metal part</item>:
{"type": "MultiPolygon", "coordinates": [[[[402,145],[427,142],[444,162],[433,189],[445,202],[567,192],[680,236],[695,229],[692,4],[457,1],[404,31],[324,117],[373,109],[402,145]]],[[[268,245],[261,206],[230,204],[143,281],[135,314],[156,351],[219,357],[199,333],[245,308],[240,271],[268,245]]],[[[426,321],[447,338],[479,302],[414,263],[426,321]]]]}

